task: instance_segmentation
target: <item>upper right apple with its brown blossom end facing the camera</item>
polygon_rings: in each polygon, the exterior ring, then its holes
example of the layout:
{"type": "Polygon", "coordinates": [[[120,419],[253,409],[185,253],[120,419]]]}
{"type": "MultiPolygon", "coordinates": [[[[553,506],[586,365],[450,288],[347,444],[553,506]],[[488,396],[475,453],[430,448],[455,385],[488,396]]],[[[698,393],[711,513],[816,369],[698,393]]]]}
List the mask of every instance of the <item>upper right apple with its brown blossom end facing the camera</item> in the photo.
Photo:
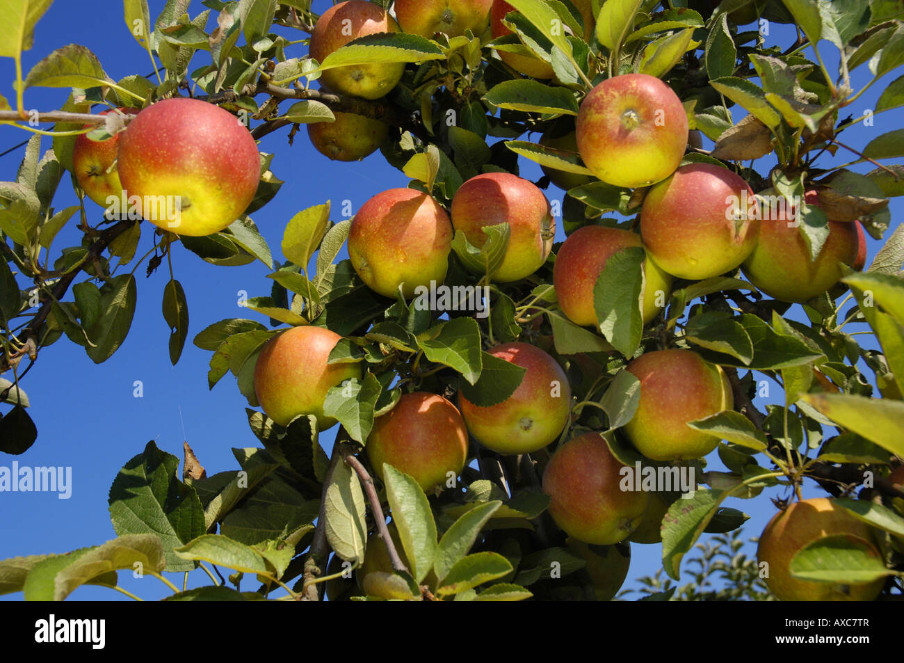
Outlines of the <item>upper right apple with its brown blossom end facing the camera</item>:
{"type": "Polygon", "coordinates": [[[576,128],[584,165],[616,186],[648,186],[672,175],[688,140],[681,99],[644,73],[614,76],[590,90],[576,128]]]}

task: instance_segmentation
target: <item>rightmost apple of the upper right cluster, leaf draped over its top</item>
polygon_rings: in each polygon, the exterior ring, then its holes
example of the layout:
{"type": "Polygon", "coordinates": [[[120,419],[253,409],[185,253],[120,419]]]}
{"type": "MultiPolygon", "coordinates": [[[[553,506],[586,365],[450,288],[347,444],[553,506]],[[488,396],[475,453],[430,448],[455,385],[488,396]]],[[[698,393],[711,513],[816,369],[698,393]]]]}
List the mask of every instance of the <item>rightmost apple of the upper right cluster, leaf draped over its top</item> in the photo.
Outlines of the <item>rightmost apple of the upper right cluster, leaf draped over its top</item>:
{"type": "MultiPolygon", "coordinates": [[[[815,191],[806,192],[804,198],[807,204],[819,207],[815,191]]],[[[803,303],[832,288],[843,277],[839,262],[862,269],[866,237],[860,222],[830,219],[829,236],[816,260],[810,260],[795,215],[793,210],[780,207],[776,218],[759,222],[759,239],[742,269],[750,282],[769,297],[803,303]]]]}

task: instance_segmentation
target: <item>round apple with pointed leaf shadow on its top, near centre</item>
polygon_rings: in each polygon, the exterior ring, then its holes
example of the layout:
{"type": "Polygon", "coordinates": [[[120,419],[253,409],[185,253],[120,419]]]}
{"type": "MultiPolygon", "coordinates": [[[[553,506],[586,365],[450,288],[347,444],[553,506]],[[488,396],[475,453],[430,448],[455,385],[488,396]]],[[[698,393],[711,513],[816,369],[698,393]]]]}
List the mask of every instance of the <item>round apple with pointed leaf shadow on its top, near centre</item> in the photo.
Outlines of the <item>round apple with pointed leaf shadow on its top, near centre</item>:
{"type": "Polygon", "coordinates": [[[374,195],[354,215],[348,255],[358,276],[374,292],[405,298],[419,286],[446,278],[452,224],[428,194],[389,189],[374,195]]]}

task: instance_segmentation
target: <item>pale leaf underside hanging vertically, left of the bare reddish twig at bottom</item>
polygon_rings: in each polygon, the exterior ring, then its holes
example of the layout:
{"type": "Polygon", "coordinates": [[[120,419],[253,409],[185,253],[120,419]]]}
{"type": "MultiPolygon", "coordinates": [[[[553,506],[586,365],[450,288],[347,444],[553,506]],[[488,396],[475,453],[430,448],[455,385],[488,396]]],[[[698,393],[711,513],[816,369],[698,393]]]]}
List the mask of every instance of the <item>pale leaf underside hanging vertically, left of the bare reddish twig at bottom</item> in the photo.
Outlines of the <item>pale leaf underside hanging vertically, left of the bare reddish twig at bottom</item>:
{"type": "Polygon", "coordinates": [[[325,496],[326,538],[335,554],[359,564],[367,545],[366,509],[361,482],[345,463],[336,463],[325,496]]]}

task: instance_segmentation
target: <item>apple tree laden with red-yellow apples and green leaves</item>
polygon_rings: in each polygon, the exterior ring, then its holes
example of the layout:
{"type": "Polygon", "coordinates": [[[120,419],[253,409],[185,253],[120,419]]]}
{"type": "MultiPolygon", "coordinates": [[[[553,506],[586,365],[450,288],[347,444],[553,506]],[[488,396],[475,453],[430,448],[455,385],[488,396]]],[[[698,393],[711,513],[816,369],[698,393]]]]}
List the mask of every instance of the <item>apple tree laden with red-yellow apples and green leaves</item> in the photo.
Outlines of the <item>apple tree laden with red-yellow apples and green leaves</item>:
{"type": "Polygon", "coordinates": [[[187,443],[181,474],[136,449],[118,538],[0,562],[3,592],[61,600],[140,563],[175,600],[611,600],[658,545],[651,599],[900,595],[904,135],[845,137],[904,106],[899,3],[196,5],[124,0],[155,71],[113,81],[89,44],[24,72],[51,0],[0,0],[0,121],[33,133],[0,183],[0,450],[38,439],[27,374],[54,343],[117,352],[138,267],[168,269],[173,364],[210,353],[250,427],[210,475],[187,443]],[[34,87],[59,108],[26,110],[34,87]],[[410,182],[338,222],[304,192],[273,251],[251,217],[287,166],[255,140],[299,131],[410,182]],[[247,317],[186,348],[174,251],[266,265],[247,317]],[[736,563],[742,500],[769,498],[736,563]],[[728,552],[694,576],[703,533],[728,552]]]}

